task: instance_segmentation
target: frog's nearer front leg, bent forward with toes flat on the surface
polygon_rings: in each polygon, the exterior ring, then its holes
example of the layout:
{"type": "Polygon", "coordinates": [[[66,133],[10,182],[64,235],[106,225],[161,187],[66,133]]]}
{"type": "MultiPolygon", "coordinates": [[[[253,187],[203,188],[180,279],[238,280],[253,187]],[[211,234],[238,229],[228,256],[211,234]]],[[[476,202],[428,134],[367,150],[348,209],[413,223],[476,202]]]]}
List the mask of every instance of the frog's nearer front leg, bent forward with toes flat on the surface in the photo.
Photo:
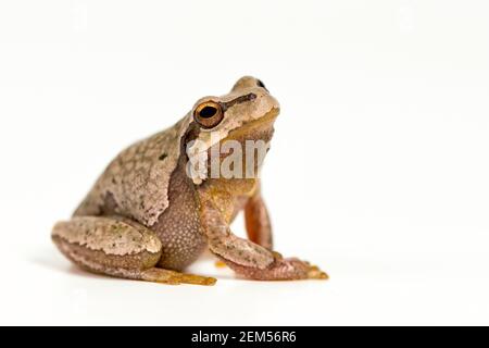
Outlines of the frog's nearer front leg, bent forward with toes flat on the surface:
{"type": "Polygon", "coordinates": [[[284,259],[250,240],[235,236],[211,200],[201,202],[201,219],[210,250],[241,276],[259,281],[327,278],[326,273],[299,259],[284,259]]]}

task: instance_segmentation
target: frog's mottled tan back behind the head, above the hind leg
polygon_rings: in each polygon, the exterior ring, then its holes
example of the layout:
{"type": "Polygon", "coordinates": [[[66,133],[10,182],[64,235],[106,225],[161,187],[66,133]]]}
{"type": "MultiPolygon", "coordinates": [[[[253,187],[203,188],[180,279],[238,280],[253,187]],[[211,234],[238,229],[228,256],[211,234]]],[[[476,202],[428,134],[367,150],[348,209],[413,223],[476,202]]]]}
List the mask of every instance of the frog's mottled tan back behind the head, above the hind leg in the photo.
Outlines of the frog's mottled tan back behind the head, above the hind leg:
{"type": "Polygon", "coordinates": [[[151,226],[168,207],[170,178],[189,117],[122,151],[74,215],[118,214],[151,226]]]}

